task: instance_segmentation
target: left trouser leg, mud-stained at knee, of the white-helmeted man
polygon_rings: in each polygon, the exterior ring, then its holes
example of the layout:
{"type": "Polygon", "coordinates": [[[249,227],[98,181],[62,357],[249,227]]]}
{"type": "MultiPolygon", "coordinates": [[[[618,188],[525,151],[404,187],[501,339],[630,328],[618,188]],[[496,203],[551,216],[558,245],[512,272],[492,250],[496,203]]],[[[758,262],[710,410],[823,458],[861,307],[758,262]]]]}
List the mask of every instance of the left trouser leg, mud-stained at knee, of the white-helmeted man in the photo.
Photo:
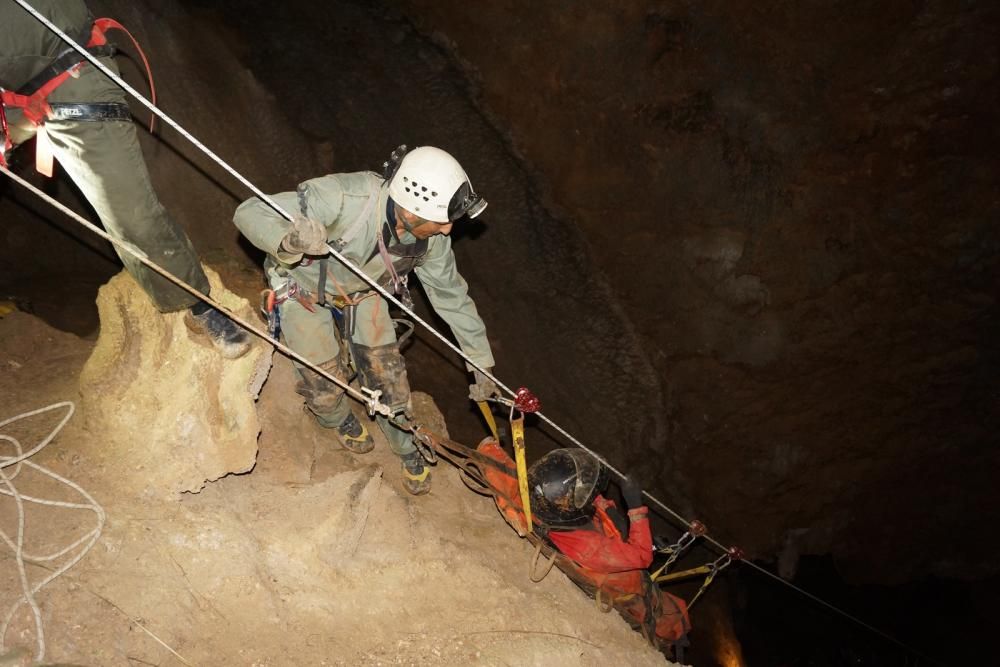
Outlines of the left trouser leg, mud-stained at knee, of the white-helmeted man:
{"type": "MultiPolygon", "coordinates": [[[[272,286],[277,287],[277,277],[269,277],[272,286]]],[[[285,301],[279,308],[281,334],[288,347],[334,377],[349,379],[333,314],[319,306],[315,307],[315,312],[310,312],[295,300],[285,301]]],[[[305,397],[306,406],[316,415],[317,421],[327,428],[343,424],[351,414],[351,404],[344,398],[344,389],[297,361],[292,365],[299,376],[296,391],[305,397]]]]}

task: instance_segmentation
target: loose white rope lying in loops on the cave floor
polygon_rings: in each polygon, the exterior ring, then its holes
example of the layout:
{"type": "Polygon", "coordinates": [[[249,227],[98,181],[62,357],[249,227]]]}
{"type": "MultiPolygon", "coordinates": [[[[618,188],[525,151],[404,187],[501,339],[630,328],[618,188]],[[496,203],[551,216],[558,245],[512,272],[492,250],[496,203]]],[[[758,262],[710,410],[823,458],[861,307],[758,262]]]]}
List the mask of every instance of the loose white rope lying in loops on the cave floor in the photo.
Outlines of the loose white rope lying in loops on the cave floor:
{"type": "Polygon", "coordinates": [[[21,583],[21,596],[16,602],[11,605],[10,609],[3,616],[3,622],[0,624],[0,652],[4,650],[4,640],[7,636],[7,631],[10,628],[11,621],[14,619],[14,615],[21,608],[22,605],[28,605],[31,609],[32,618],[34,620],[35,627],[35,643],[36,652],[35,660],[41,662],[45,658],[45,630],[42,626],[42,614],[38,608],[38,602],[35,599],[35,594],[38,593],[44,586],[49,584],[53,579],[62,575],[68,569],[80,562],[90,548],[94,546],[97,539],[101,535],[101,531],[104,529],[104,522],[106,516],[104,514],[104,509],[97,503],[94,498],[83,490],[78,484],[72,482],[61,475],[58,475],[47,468],[44,468],[36,463],[29,461],[32,456],[40,452],[46,445],[52,442],[53,438],[62,430],[69,418],[73,416],[76,410],[76,406],[69,401],[61,403],[53,403],[52,405],[41,408],[38,410],[33,410],[31,412],[25,412],[23,414],[17,415],[16,417],[11,417],[0,422],[0,429],[13,424],[22,419],[28,419],[29,417],[34,417],[36,415],[44,414],[46,412],[51,412],[53,410],[65,409],[66,414],[59,421],[59,423],[52,429],[51,432],[45,438],[39,442],[37,445],[24,451],[21,447],[21,443],[4,433],[0,432],[0,444],[8,443],[14,448],[13,456],[3,456],[0,455],[0,494],[4,496],[9,496],[14,499],[14,503],[17,506],[17,536],[15,539],[11,539],[2,529],[0,529],[0,540],[3,540],[13,552],[14,552],[14,562],[17,566],[17,574],[21,583]],[[14,479],[21,473],[22,467],[27,466],[31,470],[38,473],[51,477],[57,482],[61,482],[66,486],[70,487],[77,493],[79,493],[86,502],[74,503],[67,502],[63,500],[52,500],[48,498],[36,498],[34,496],[25,495],[17,490],[14,486],[14,479]],[[13,467],[13,472],[8,473],[7,469],[13,467]],[[47,505],[50,507],[63,507],[67,509],[82,509],[89,510],[96,515],[96,525],[85,533],[82,537],[74,540],[71,544],[59,549],[50,554],[31,554],[25,551],[24,548],[24,533],[25,533],[25,521],[24,521],[24,503],[35,503],[37,505],[47,505]],[[75,552],[75,553],[74,553],[75,552]],[[65,562],[51,570],[49,574],[38,582],[32,584],[28,579],[28,572],[25,568],[25,563],[50,563],[52,561],[58,560],[71,555],[65,562]]]}

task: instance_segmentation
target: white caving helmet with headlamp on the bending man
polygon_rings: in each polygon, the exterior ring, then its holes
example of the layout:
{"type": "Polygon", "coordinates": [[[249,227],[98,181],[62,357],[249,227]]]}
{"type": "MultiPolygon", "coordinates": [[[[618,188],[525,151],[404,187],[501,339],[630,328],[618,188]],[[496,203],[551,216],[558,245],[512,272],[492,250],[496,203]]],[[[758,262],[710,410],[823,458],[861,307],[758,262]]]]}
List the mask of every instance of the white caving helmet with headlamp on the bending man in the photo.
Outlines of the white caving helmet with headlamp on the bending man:
{"type": "Polygon", "coordinates": [[[462,165],[440,148],[400,146],[382,166],[392,200],[425,220],[445,224],[486,208],[462,165]]]}

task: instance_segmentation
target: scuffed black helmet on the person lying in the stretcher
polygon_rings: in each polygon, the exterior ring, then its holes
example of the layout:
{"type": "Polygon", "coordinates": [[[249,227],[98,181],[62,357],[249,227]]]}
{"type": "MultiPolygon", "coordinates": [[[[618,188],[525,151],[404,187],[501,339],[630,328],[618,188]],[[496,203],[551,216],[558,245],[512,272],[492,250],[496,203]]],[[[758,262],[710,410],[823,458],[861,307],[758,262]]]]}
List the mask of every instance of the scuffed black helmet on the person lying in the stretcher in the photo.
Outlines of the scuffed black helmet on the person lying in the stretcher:
{"type": "Polygon", "coordinates": [[[550,526],[582,526],[607,483],[607,470],[587,452],[553,450],[528,470],[531,511],[550,526]]]}

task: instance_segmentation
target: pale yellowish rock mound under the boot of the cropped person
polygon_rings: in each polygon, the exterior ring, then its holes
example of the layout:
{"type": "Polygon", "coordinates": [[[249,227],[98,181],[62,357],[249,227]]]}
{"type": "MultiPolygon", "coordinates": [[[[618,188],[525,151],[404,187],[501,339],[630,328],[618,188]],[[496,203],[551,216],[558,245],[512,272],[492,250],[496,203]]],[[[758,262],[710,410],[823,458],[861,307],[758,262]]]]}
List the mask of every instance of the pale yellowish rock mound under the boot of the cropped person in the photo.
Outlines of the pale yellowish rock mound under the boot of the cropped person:
{"type": "MultiPolygon", "coordinates": [[[[246,300],[206,269],[212,297],[258,324],[246,300]]],[[[247,472],[257,456],[255,401],[272,348],[255,339],[236,360],[161,314],[126,273],[97,297],[101,332],[80,375],[89,452],[121,483],[154,496],[198,492],[206,482],[247,472]]]]}

